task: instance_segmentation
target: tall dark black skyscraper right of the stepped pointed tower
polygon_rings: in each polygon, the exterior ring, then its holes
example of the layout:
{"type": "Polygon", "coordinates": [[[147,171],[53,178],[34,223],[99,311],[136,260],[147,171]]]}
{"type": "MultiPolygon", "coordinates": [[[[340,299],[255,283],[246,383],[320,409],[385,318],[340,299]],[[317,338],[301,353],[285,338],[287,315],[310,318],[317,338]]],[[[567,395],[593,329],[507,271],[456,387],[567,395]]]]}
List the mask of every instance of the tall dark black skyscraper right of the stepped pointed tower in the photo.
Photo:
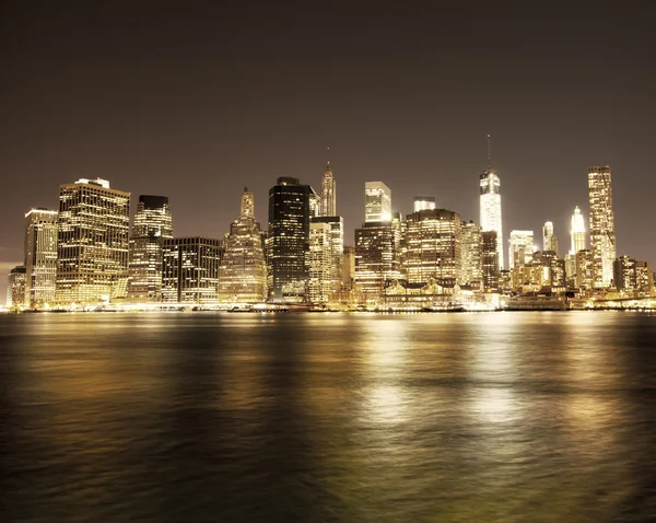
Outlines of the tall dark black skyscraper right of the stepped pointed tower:
{"type": "Polygon", "coordinates": [[[307,298],[309,219],[317,195],[298,178],[280,177],[269,189],[268,287],[273,301],[307,298]]]}

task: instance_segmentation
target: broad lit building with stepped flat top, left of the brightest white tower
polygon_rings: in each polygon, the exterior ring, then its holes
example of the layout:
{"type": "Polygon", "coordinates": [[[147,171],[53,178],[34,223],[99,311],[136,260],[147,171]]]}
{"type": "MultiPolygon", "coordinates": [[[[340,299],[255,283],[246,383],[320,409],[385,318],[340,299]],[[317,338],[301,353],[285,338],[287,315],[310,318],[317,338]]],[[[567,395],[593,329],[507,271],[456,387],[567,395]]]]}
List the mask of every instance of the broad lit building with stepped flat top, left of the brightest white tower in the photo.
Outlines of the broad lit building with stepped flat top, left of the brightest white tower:
{"type": "Polygon", "coordinates": [[[446,209],[423,210],[406,218],[405,267],[408,283],[460,282],[461,220],[446,209]]]}

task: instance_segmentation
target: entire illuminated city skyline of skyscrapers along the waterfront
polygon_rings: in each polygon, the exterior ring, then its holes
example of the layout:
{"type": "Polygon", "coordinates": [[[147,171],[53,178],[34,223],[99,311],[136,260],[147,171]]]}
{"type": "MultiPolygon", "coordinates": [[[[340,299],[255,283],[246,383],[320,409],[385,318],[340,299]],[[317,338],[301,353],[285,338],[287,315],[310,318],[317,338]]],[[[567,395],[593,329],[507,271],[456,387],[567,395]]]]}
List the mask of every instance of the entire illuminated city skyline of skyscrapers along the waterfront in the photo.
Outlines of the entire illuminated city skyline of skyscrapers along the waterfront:
{"type": "Polygon", "coordinates": [[[336,181],[326,164],[320,193],[293,177],[269,190],[267,228],[244,189],[223,239],[174,235],[165,196],[141,195],[130,228],[130,194],[104,179],[59,188],[59,210],[25,214],[25,259],[9,275],[8,305],[47,309],[109,302],[238,306],[257,303],[401,305],[494,302],[500,295],[654,292],[651,264],[617,256],[609,166],[588,168],[589,246],[578,207],[561,255],[553,223],[511,231],[505,268],[501,179],[480,175],[480,222],[435,198],[391,210],[383,182],[364,187],[364,222],[344,246],[336,181]]]}

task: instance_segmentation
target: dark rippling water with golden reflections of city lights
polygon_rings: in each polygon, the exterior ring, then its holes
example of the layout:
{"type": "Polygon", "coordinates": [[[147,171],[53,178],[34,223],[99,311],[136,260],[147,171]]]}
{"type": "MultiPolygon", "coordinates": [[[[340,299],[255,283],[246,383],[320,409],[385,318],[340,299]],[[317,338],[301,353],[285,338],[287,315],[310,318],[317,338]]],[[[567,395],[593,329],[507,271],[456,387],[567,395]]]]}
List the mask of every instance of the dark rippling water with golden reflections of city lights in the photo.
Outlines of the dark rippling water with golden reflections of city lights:
{"type": "Polygon", "coordinates": [[[0,520],[656,521],[656,315],[0,316],[0,520]]]}

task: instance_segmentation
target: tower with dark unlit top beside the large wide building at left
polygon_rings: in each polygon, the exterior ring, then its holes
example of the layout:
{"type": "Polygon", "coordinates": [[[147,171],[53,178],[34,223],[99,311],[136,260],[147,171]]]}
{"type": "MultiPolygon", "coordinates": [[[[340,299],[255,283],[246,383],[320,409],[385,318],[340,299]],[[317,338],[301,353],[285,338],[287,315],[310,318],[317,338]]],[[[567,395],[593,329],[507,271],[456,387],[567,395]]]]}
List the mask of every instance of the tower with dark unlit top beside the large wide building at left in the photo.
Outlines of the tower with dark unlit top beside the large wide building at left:
{"type": "Polygon", "coordinates": [[[173,237],[173,218],[166,196],[140,195],[130,240],[128,298],[162,301],[164,240],[173,237]]]}

